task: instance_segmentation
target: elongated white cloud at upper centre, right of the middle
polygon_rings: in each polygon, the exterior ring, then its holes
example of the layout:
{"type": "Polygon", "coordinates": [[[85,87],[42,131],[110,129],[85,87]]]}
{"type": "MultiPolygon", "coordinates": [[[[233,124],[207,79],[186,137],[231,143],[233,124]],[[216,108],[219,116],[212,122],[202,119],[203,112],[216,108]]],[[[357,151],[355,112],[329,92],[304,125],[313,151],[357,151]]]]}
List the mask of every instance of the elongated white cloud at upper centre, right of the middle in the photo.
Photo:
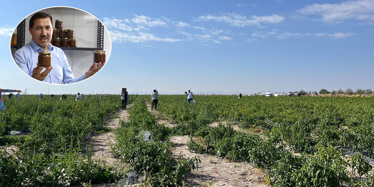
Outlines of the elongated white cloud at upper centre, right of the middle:
{"type": "Polygon", "coordinates": [[[221,13],[221,15],[204,15],[196,19],[196,21],[217,21],[225,22],[235,27],[245,27],[248,25],[258,25],[261,24],[277,24],[284,21],[284,17],[280,15],[270,15],[270,16],[246,16],[237,15],[236,13],[221,13]]]}

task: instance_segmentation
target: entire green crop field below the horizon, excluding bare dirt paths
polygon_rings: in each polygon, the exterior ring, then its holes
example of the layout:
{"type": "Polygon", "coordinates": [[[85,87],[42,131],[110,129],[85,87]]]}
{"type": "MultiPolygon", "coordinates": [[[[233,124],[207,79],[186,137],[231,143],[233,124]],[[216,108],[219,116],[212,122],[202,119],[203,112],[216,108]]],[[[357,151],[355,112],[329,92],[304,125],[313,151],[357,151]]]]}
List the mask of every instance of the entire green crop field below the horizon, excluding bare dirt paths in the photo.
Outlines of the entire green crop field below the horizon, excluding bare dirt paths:
{"type": "Polygon", "coordinates": [[[0,145],[18,149],[0,149],[0,186],[109,183],[130,169],[145,172],[152,186],[181,186],[199,158],[171,153],[169,139],[179,135],[190,136],[190,151],[263,169],[274,186],[374,186],[367,161],[374,159],[373,98],[197,95],[192,105],[184,95],[160,95],[158,117],[174,127],[157,123],[147,111],[149,98],[131,95],[130,120],[114,132],[113,156],[127,164],[120,170],[83,154],[81,143],[90,132],[104,133],[106,117],[120,109],[118,95],[86,95],[78,102],[74,96],[5,99],[0,145]],[[9,136],[11,129],[31,133],[9,136]],[[153,142],[141,140],[144,131],[153,142]],[[358,154],[345,156],[337,146],[358,154]]]}

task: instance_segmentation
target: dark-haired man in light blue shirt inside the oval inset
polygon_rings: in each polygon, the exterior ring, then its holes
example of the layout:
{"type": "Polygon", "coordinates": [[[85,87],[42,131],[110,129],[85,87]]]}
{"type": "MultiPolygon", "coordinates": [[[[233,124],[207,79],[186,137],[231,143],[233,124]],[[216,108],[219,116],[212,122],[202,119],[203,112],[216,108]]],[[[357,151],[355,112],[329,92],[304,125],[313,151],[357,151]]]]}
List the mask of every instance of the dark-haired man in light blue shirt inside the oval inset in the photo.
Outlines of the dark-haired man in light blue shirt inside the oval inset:
{"type": "Polygon", "coordinates": [[[38,12],[31,16],[29,25],[31,42],[16,50],[13,58],[18,67],[34,79],[52,84],[75,83],[91,77],[104,66],[105,62],[99,62],[98,67],[93,63],[85,74],[75,78],[64,51],[50,44],[55,28],[52,16],[49,13],[38,12]],[[52,53],[51,67],[38,67],[39,52],[52,53]]]}

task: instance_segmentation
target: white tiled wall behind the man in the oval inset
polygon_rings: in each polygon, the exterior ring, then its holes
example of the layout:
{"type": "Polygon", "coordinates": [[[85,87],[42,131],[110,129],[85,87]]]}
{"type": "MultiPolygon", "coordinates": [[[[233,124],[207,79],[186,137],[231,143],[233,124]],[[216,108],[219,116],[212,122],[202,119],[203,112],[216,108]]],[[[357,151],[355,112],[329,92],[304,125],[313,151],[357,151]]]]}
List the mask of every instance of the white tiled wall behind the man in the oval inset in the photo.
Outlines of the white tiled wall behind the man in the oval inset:
{"type": "MultiPolygon", "coordinates": [[[[74,37],[77,39],[77,47],[97,47],[98,20],[94,16],[82,10],[68,7],[55,7],[40,10],[38,12],[50,13],[53,18],[53,25],[55,25],[56,19],[62,19],[64,29],[74,29],[74,37]]],[[[31,35],[28,31],[31,16],[32,15],[25,18],[25,44],[31,41],[31,35]]],[[[106,61],[108,62],[111,51],[111,42],[108,30],[106,28],[104,29],[104,50],[106,51],[106,61]]],[[[79,77],[88,71],[89,67],[93,63],[93,51],[64,50],[64,52],[68,58],[71,71],[73,71],[75,77],[79,77]]]]}

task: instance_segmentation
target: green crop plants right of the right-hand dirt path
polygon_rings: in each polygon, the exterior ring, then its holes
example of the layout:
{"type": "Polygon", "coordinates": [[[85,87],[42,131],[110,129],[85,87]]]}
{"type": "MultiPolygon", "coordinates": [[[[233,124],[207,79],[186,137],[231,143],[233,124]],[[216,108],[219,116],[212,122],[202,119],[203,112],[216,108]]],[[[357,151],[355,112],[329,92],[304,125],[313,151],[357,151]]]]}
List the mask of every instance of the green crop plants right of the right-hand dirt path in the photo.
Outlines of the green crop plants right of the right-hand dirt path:
{"type": "Polygon", "coordinates": [[[268,172],[275,186],[374,186],[374,99],[159,96],[160,115],[189,135],[188,148],[268,172]],[[209,124],[226,121],[231,126],[209,124]],[[262,133],[256,133],[262,132],[262,133]],[[345,156],[337,147],[357,152],[345,156]]]}

